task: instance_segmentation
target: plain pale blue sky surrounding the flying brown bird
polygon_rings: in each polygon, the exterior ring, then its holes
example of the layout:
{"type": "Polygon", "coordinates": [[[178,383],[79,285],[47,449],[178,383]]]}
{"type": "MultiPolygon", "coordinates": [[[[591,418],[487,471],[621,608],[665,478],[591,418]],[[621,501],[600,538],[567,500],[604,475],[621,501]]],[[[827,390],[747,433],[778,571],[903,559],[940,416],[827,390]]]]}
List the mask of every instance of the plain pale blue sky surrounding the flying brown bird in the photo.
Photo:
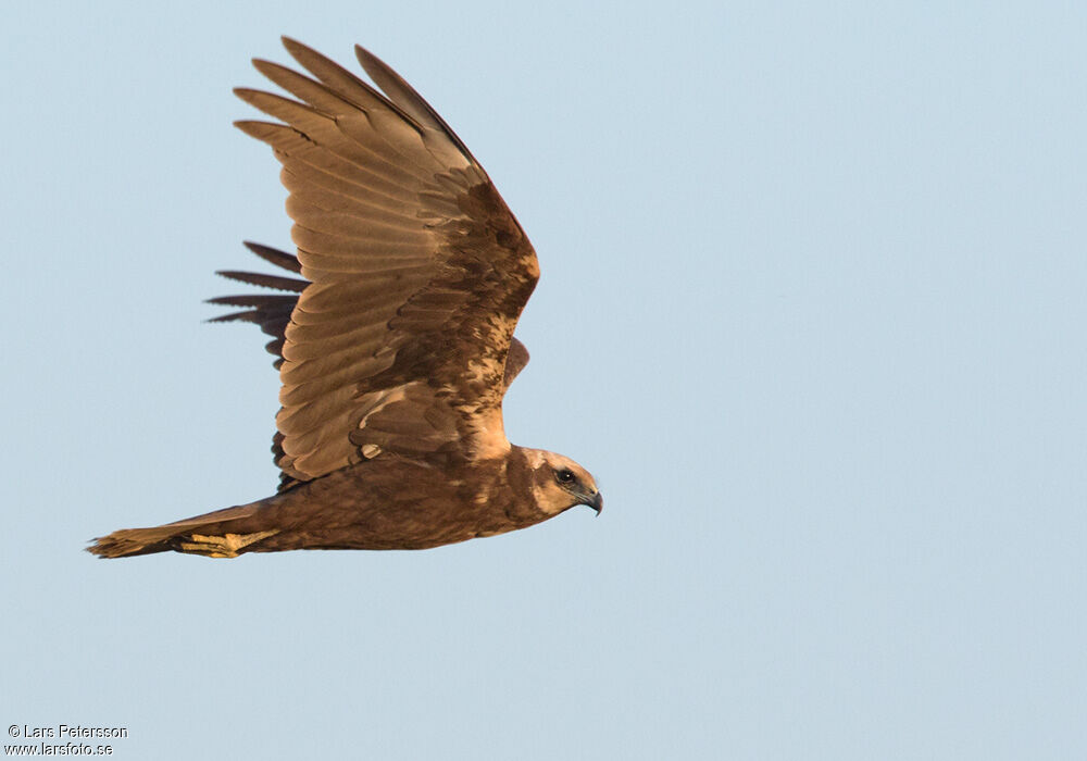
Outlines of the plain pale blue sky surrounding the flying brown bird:
{"type": "MultiPolygon", "coordinates": [[[[0,725],[121,759],[1087,757],[1087,8],[11,3],[0,725]],[[424,552],[100,561],[273,492],[289,246],[230,126],[396,67],[539,252],[510,438],[607,509],[424,552]]],[[[8,743],[9,738],[4,739],[8,743]]]]}

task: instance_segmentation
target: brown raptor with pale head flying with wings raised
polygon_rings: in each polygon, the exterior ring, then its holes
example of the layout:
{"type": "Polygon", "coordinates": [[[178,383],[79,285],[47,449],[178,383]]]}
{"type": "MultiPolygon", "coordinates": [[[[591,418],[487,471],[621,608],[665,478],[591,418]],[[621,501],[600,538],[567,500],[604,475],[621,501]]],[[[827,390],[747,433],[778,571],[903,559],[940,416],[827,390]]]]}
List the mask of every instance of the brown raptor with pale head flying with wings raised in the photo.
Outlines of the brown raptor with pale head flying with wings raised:
{"type": "Polygon", "coordinates": [[[212,299],[218,321],[272,336],[283,387],[278,491],[88,548],[102,558],[234,558],[293,549],[425,549],[603,500],[573,460],[510,444],[502,398],[528,361],[513,337],[536,252],[487,173],[396,72],[355,47],[376,88],[284,38],[309,72],[257,70],[293,96],[239,88],[275,122],[298,255],[249,249],[291,276],[221,272],[279,291],[212,299]],[[378,89],[379,88],[379,89],[378,89]]]}

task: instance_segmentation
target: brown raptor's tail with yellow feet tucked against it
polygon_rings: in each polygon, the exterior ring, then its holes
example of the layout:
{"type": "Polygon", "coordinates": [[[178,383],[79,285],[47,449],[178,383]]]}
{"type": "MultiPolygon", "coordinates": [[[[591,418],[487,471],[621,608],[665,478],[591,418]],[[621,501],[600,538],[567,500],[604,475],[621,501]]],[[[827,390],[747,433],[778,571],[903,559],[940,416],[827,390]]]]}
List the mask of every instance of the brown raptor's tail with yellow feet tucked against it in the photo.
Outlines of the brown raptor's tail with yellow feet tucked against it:
{"type": "Polygon", "coordinates": [[[226,508],[151,528],[122,528],[98,537],[87,551],[99,558],[130,558],[171,550],[208,558],[236,558],[278,533],[275,528],[253,529],[251,519],[258,515],[260,504],[226,508]]]}

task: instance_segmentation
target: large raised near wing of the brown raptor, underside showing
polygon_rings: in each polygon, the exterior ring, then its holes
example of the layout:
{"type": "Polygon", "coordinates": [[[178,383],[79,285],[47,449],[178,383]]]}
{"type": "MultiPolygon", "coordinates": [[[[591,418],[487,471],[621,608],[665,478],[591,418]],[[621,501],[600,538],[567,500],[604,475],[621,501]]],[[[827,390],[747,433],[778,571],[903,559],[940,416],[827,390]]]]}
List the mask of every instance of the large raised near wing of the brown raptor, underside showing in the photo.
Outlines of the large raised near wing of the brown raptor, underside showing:
{"type": "Polygon", "coordinates": [[[277,464],[309,481],[384,450],[504,453],[507,361],[512,379],[527,359],[520,345],[511,355],[513,328],[539,276],[532,245],[460,139],[388,66],[355,48],[382,95],[284,45],[312,78],[254,61],[299,100],[238,89],[280,123],[237,126],[283,164],[305,280],[227,273],[301,290],[222,301],[250,307],[228,319],[282,340],[270,345],[283,360],[277,464]]]}

